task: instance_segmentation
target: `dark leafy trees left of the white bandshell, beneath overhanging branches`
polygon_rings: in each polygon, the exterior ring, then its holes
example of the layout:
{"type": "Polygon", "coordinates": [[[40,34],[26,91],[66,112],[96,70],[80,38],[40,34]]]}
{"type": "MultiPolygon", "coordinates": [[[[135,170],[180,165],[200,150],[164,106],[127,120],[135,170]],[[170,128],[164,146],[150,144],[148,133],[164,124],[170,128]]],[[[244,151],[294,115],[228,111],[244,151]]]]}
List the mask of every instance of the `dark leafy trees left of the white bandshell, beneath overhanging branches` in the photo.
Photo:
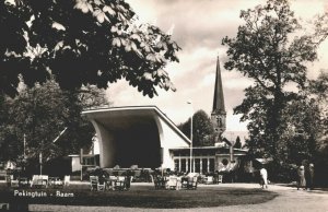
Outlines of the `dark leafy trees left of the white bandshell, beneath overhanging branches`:
{"type": "Polygon", "coordinates": [[[43,153],[44,161],[68,154],[77,154],[81,148],[90,148],[94,129],[81,117],[86,107],[108,104],[101,90],[89,90],[93,103],[85,98],[87,90],[62,91],[54,81],[33,89],[24,87],[14,98],[7,98],[7,120],[0,125],[1,160],[16,160],[23,155],[24,136],[28,160],[37,160],[43,153]],[[83,97],[82,97],[83,96],[83,97]],[[65,133],[54,143],[55,139],[65,133]]]}

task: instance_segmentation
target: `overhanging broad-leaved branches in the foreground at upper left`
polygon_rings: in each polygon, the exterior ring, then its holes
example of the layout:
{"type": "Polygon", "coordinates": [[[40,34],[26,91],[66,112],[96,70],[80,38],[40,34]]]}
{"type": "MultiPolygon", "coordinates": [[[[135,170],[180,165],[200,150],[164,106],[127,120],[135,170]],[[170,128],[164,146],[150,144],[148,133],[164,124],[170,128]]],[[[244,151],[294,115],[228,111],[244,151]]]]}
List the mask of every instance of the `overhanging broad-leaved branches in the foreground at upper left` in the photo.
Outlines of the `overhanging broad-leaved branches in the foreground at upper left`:
{"type": "Polygon", "coordinates": [[[143,95],[175,90],[164,68],[179,47],[159,27],[139,24],[124,0],[15,0],[0,2],[0,92],[17,94],[50,75],[63,89],[125,78],[143,95]]]}

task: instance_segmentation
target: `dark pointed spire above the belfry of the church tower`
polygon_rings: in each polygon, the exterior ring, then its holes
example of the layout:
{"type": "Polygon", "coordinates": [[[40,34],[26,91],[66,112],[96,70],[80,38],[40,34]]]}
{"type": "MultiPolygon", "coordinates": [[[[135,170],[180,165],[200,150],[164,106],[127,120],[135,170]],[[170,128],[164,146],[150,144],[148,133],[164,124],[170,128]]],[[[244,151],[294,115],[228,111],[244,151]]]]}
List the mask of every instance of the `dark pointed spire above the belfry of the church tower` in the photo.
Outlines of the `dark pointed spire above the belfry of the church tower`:
{"type": "Polygon", "coordinates": [[[218,56],[218,60],[216,60],[216,73],[215,74],[216,75],[215,75],[215,87],[214,87],[212,113],[225,113],[219,56],[218,56]]]}

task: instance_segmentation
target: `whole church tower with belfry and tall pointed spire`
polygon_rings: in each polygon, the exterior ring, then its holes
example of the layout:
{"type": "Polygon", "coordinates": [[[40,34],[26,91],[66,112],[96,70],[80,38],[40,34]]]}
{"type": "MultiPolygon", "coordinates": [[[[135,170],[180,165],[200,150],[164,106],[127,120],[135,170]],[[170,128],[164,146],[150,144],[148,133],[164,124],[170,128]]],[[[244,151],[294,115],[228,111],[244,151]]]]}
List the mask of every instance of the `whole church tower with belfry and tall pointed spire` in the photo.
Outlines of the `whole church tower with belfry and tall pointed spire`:
{"type": "Polygon", "coordinates": [[[215,73],[215,87],[214,87],[214,98],[213,98],[213,109],[211,113],[211,121],[215,131],[215,141],[219,142],[221,134],[226,129],[226,111],[224,107],[224,96],[222,89],[221,69],[220,60],[218,56],[216,60],[216,73],[215,73]]]}

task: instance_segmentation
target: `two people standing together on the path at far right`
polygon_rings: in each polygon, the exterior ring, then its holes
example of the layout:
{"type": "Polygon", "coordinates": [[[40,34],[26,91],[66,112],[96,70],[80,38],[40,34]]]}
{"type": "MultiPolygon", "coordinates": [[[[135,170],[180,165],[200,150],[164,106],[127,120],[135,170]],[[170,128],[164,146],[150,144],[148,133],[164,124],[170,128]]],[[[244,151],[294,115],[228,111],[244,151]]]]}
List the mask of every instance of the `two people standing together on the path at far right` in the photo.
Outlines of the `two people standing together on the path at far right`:
{"type": "Polygon", "coordinates": [[[312,190],[314,186],[314,164],[302,164],[297,169],[297,190],[312,190]]]}

